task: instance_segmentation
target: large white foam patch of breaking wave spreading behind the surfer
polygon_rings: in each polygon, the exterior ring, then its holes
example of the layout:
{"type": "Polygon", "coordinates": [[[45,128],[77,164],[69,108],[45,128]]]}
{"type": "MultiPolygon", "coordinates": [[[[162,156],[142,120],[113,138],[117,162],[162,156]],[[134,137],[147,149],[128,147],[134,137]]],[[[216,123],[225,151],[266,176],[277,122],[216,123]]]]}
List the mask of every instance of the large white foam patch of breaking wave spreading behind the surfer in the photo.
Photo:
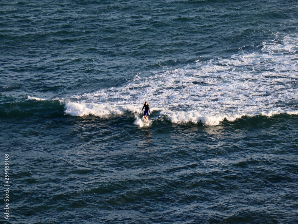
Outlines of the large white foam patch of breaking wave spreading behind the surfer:
{"type": "Polygon", "coordinates": [[[196,60],[181,69],[164,68],[155,75],[123,86],[72,96],[66,113],[109,117],[137,114],[145,101],[151,116],[166,116],[173,123],[218,125],[223,119],[280,113],[297,114],[297,36],[276,36],[257,52],[239,52],[231,58],[196,60]],[[145,94],[144,94],[145,93],[145,94]]]}

